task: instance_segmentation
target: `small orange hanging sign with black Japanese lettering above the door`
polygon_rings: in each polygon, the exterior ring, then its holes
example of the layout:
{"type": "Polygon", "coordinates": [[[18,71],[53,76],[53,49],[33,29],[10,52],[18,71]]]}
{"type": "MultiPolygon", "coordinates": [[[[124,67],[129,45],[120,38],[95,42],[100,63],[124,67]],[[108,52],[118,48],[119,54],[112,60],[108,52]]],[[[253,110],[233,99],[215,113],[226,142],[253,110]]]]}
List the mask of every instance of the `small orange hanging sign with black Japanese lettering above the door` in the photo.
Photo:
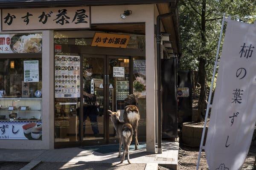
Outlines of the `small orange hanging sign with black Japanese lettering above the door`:
{"type": "Polygon", "coordinates": [[[108,34],[96,32],[93,37],[92,46],[126,48],[130,35],[126,34],[108,34]]]}

